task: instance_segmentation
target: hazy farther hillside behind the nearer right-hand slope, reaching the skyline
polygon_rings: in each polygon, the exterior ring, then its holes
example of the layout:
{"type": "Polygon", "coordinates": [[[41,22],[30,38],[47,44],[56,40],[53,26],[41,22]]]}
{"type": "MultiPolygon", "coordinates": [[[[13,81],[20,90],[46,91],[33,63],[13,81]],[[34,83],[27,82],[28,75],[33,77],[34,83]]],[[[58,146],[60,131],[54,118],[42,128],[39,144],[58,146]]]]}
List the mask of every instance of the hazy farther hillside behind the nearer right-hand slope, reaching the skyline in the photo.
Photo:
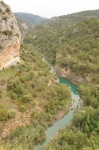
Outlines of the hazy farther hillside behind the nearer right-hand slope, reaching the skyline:
{"type": "Polygon", "coordinates": [[[66,16],[54,17],[43,25],[36,26],[28,34],[26,40],[27,42],[33,41],[33,45],[43,52],[52,64],[55,64],[56,51],[62,45],[64,35],[68,32],[68,28],[80,21],[93,17],[99,18],[99,10],[83,11],[66,16]]]}

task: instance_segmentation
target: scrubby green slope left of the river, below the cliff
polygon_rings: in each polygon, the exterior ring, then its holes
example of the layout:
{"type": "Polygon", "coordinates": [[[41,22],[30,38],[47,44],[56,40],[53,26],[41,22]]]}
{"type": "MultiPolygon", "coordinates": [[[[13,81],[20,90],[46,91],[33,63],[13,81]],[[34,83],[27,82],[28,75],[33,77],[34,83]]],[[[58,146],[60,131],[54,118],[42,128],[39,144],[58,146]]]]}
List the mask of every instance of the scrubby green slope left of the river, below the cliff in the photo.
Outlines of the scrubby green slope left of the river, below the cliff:
{"type": "Polygon", "coordinates": [[[18,122],[22,124],[15,130],[11,128],[12,132],[2,140],[7,150],[24,147],[32,150],[45,139],[45,129],[55,122],[57,114],[60,111],[65,114],[71,104],[70,88],[54,82],[56,75],[50,72],[50,66],[42,61],[32,45],[23,44],[20,53],[21,63],[0,74],[3,91],[0,102],[5,103],[8,112],[3,120],[8,120],[5,124],[13,124],[19,114],[18,122]]]}

